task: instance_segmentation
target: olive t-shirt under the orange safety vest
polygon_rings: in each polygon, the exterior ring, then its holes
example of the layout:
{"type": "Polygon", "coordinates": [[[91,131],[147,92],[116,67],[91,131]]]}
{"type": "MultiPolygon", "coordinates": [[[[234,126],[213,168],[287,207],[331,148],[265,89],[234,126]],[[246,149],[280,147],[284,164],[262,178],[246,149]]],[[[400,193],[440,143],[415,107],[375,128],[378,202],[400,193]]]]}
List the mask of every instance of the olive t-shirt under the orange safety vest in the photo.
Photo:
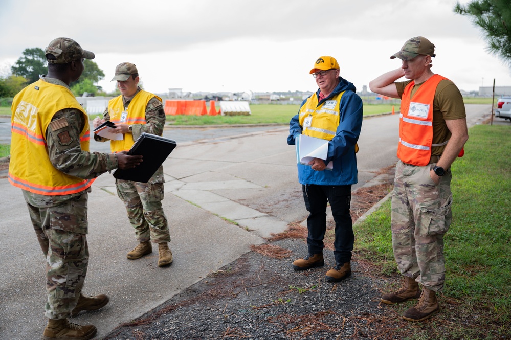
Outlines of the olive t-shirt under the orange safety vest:
{"type": "MultiPolygon", "coordinates": [[[[403,97],[405,87],[410,82],[411,80],[395,83],[399,98],[403,97]]],[[[422,84],[424,83],[414,85],[411,96],[422,84]]],[[[446,120],[462,118],[466,118],[465,104],[458,87],[448,79],[441,80],[433,98],[433,144],[441,144],[451,138],[451,131],[447,128],[446,120]]],[[[431,155],[441,155],[445,147],[445,145],[433,146],[431,155]]]]}

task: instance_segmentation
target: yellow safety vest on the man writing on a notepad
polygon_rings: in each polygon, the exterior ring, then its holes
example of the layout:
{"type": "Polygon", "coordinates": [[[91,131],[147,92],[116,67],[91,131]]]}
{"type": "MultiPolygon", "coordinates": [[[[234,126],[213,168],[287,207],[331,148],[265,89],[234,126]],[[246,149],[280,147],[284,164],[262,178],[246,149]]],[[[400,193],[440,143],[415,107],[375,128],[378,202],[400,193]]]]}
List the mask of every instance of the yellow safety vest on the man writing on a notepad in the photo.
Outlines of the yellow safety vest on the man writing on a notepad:
{"type": "MultiPolygon", "coordinates": [[[[150,92],[140,90],[135,97],[131,99],[126,110],[124,109],[122,96],[111,99],[108,102],[108,115],[110,116],[110,121],[115,124],[145,124],[145,109],[149,100],[154,97],[162,101],[160,97],[155,96],[150,92]]],[[[112,149],[112,152],[119,152],[129,150],[133,144],[135,144],[133,134],[125,133],[123,140],[110,141],[110,148],[112,149]]]]}

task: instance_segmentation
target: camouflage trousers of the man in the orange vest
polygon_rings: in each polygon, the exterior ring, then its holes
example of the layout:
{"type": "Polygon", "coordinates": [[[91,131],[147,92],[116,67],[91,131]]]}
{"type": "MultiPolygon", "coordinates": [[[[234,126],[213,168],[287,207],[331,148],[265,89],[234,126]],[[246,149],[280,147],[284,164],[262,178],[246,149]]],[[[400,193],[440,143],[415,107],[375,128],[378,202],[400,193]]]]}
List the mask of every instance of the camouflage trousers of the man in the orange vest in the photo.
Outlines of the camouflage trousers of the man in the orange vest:
{"type": "Polygon", "coordinates": [[[401,274],[440,291],[446,275],[443,235],[452,222],[452,174],[447,170],[437,185],[430,176],[434,165],[397,162],[391,228],[392,248],[401,274]]]}

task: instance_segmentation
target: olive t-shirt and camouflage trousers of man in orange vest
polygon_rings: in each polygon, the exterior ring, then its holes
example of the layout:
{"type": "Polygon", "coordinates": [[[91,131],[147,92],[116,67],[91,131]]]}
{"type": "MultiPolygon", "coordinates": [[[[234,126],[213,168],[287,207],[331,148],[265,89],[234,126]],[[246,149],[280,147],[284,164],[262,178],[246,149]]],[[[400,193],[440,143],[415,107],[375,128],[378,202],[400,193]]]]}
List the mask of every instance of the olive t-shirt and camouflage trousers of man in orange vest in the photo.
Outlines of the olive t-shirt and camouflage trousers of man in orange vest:
{"type": "MultiPolygon", "coordinates": [[[[396,82],[399,98],[410,81],[396,82]]],[[[416,87],[419,85],[415,85],[416,87]]],[[[442,80],[433,101],[433,143],[448,140],[445,120],[465,118],[461,94],[450,80],[442,80]]],[[[445,149],[433,146],[437,160],[445,149]]],[[[416,278],[424,287],[441,291],[445,282],[443,236],[452,222],[451,170],[436,185],[430,170],[436,165],[414,166],[398,161],[392,192],[392,247],[403,276],[416,278]]]]}

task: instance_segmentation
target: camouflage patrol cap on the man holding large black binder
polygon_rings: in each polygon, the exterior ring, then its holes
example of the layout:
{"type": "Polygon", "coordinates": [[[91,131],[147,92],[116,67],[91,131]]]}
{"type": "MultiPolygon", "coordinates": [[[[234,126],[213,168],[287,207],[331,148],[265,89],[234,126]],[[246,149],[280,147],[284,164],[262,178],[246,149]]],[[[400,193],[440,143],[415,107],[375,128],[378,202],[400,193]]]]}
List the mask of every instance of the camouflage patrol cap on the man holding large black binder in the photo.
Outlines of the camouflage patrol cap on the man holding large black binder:
{"type": "Polygon", "coordinates": [[[94,59],[94,57],[94,53],[85,51],[78,42],[70,38],[53,39],[46,47],[46,59],[51,64],[66,64],[73,60],[94,59]]]}

